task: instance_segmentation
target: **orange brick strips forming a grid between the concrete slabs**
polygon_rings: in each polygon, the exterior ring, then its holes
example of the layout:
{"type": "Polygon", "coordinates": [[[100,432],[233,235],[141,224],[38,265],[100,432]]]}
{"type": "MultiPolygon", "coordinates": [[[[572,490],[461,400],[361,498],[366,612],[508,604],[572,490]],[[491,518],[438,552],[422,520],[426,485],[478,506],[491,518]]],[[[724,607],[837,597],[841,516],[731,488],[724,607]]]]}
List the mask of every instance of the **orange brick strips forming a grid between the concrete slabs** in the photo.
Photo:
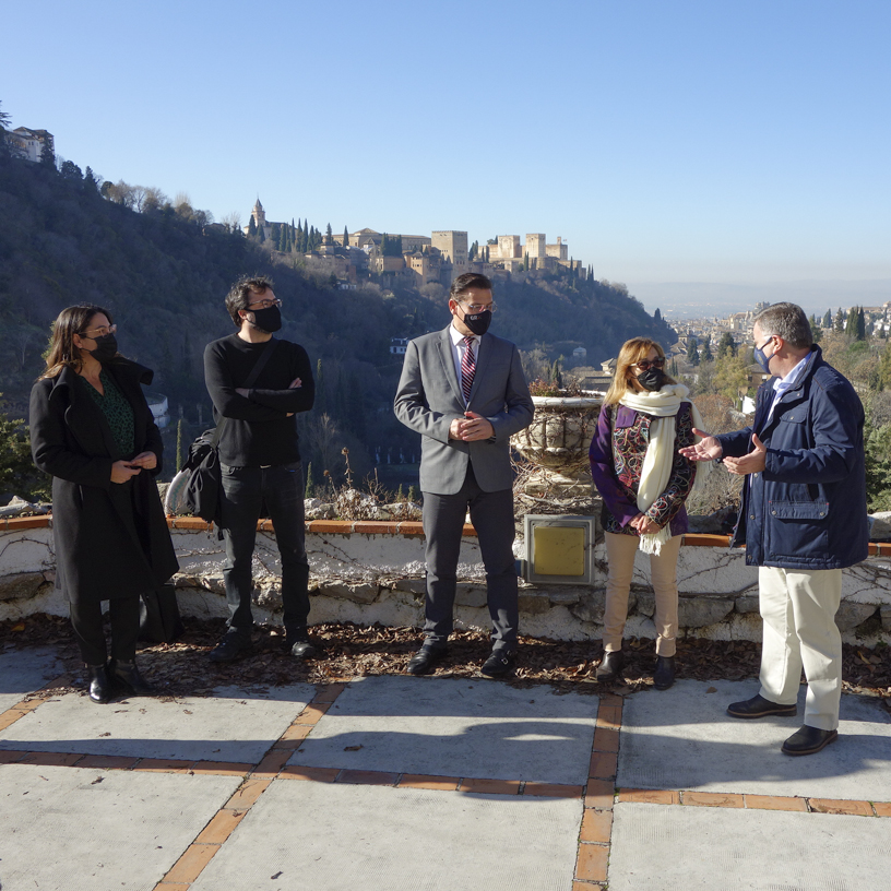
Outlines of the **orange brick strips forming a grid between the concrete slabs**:
{"type": "MultiPolygon", "coordinates": [[[[0,730],[38,709],[49,690],[71,682],[62,676],[0,713],[0,730]]],[[[155,891],[186,891],[199,879],[236,827],[270,789],[276,779],[321,784],[384,786],[428,792],[459,792],[486,796],[569,798],[583,800],[573,891],[591,891],[607,881],[614,805],[663,805],[687,808],[792,811],[859,817],[891,817],[891,803],[713,793],[685,789],[616,788],[622,721],[622,699],[599,697],[596,729],[583,785],[521,780],[437,776],[373,770],[306,767],[288,763],[318,722],[346,689],[349,679],[317,687],[312,701],[297,715],[258,763],[97,756],[84,752],[0,750],[0,764],[86,768],[163,774],[240,776],[241,783],[155,887],[155,891]]]]}

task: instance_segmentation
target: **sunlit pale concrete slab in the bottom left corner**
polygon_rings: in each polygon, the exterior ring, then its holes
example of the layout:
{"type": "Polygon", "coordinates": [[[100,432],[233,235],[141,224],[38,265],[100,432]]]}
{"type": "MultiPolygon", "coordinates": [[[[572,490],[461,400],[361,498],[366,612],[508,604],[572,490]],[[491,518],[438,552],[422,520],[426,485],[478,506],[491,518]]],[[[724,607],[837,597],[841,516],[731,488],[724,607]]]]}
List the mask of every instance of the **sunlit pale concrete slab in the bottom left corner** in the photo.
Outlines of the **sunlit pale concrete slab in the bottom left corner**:
{"type": "Polygon", "coordinates": [[[5,764],[3,891],[154,888],[240,782],[5,764]]]}

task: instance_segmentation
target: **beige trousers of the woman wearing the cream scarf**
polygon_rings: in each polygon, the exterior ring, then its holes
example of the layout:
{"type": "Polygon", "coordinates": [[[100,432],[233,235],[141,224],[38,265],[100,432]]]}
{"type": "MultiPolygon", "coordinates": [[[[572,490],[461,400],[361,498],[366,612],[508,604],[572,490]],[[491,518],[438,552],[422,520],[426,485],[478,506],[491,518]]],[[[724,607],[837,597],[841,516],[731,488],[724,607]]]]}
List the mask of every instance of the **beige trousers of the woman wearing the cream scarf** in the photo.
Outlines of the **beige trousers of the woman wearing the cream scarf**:
{"type": "MultiPolygon", "coordinates": [[[[606,579],[606,608],[604,609],[604,650],[621,650],[625,621],[628,618],[628,593],[634,574],[634,557],[640,539],[637,535],[604,533],[609,574],[606,579]]],[[[680,535],[662,546],[658,557],[650,555],[650,582],[656,595],[656,654],[675,655],[677,638],[677,558],[680,535]]]]}

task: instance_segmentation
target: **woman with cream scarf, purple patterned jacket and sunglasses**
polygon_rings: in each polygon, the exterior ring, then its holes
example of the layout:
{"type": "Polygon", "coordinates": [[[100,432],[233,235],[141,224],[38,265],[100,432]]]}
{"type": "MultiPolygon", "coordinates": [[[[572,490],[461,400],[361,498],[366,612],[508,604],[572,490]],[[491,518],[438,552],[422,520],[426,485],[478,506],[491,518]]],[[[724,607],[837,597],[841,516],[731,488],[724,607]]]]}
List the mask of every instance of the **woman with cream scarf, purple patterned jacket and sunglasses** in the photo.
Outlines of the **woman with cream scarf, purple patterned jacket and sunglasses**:
{"type": "Polygon", "coordinates": [[[650,555],[656,599],[656,665],[653,684],[675,682],[678,623],[677,560],[687,532],[687,500],[697,466],[678,449],[696,440],[699,412],[689,390],[665,373],[665,353],[649,337],[622,345],[591,442],[591,473],[603,497],[601,522],[609,565],[604,611],[604,657],[598,681],[625,666],[622,632],[638,549],[650,555]]]}

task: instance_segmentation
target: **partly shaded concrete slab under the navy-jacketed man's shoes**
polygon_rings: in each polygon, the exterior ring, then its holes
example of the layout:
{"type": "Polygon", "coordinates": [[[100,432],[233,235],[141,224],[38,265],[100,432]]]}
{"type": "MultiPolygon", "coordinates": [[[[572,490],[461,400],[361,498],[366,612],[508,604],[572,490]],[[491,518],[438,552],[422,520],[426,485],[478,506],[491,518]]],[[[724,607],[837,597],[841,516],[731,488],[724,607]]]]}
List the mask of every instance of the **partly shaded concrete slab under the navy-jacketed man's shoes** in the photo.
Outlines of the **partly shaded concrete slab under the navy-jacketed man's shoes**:
{"type": "Polygon", "coordinates": [[[801,726],[805,688],[797,717],[725,713],[756,692],[755,682],[681,680],[666,692],[627,697],[616,784],[891,801],[891,720],[877,700],[843,696],[840,739],[816,756],[789,758],[780,747],[801,726]]]}

